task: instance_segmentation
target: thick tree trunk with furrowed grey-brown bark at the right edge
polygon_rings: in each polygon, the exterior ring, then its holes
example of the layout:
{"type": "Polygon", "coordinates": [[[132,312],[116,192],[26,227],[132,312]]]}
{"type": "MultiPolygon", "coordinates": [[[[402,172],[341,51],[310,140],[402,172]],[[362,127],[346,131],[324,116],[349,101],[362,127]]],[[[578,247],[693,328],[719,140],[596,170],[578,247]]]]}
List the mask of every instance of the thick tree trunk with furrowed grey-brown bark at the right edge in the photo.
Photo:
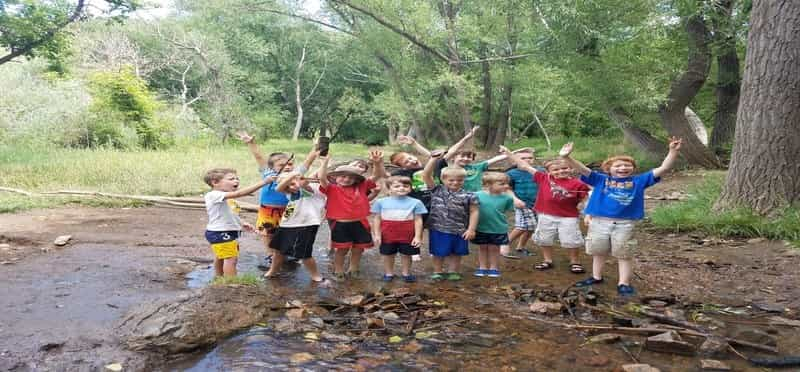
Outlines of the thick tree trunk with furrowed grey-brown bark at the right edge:
{"type": "Polygon", "coordinates": [[[755,0],[730,170],[719,207],[800,203],[800,2],[755,0]]]}

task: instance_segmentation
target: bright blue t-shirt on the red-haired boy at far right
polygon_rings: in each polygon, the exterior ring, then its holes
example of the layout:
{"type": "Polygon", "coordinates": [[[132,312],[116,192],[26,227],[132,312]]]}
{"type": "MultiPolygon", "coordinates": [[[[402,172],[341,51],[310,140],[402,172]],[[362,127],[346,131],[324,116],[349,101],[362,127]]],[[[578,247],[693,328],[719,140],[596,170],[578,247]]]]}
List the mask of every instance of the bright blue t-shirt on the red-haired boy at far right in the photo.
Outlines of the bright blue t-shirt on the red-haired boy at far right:
{"type": "Polygon", "coordinates": [[[653,171],[624,178],[592,171],[588,176],[581,176],[581,181],[593,189],[584,213],[598,217],[641,220],[644,218],[644,189],[655,185],[661,178],[656,177],[653,171]]]}

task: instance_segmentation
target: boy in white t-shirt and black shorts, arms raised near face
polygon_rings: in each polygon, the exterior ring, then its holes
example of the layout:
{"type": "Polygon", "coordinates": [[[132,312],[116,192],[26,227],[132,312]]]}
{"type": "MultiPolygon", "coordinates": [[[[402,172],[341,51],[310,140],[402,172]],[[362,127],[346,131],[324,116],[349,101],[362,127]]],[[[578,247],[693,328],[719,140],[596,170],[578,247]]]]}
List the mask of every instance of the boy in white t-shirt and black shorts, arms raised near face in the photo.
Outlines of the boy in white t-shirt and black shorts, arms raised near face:
{"type": "MultiPolygon", "coordinates": [[[[317,151],[319,153],[319,151],[317,151]]],[[[324,158],[323,167],[328,166],[328,158],[324,158]]],[[[325,209],[325,195],[319,191],[319,185],[309,184],[300,172],[282,173],[278,177],[276,191],[286,193],[289,204],[281,217],[270,247],[275,250],[272,267],[266,277],[274,277],[285,256],[297,257],[308,270],[311,281],[323,283],[324,279],[317,270],[314,260],[314,240],[322,223],[322,211],[325,209]]]]}

